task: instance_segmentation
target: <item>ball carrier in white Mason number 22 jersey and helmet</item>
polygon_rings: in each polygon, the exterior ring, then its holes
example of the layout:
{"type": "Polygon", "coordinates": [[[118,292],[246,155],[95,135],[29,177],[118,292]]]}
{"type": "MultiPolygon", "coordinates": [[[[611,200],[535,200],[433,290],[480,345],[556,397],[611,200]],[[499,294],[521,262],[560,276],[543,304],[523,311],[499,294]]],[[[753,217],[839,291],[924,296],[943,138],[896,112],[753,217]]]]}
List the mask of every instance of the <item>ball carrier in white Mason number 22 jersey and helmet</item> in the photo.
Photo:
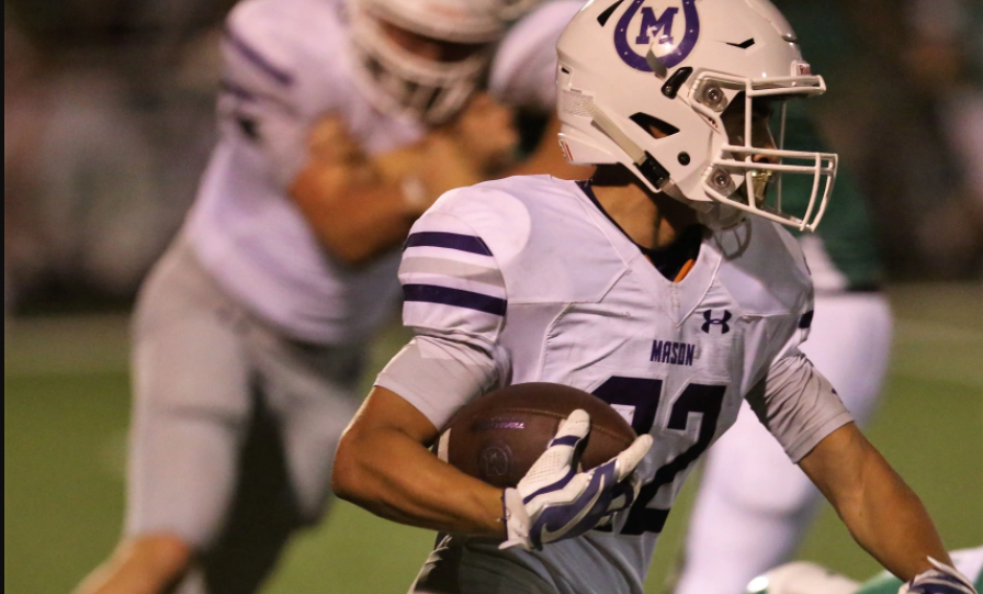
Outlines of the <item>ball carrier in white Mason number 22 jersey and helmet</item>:
{"type": "Polygon", "coordinates": [[[825,91],[788,23],[766,0],[591,2],[557,54],[560,142],[597,172],[454,190],[417,221],[399,269],[416,337],[342,436],[335,492],[441,533],[413,592],[641,593],[746,400],[858,542],[928,592],[929,557],[951,563],[931,520],[799,350],[813,289],[781,225],[815,228],[837,158],[776,148],[772,110],[825,91]],[[767,199],[779,173],[810,180],[803,212],[767,199]],[[472,399],[532,381],[630,410],[640,437],[585,471],[575,411],[505,490],[428,449],[472,399]]]}

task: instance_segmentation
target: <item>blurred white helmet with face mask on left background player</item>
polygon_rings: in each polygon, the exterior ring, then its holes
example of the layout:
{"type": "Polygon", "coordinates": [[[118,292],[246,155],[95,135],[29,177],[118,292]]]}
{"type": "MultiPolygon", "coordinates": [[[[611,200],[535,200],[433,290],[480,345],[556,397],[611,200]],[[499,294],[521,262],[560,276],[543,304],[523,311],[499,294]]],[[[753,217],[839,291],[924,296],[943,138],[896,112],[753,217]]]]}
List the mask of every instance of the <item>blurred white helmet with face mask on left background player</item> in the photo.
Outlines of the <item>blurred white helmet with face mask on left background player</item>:
{"type": "Polygon", "coordinates": [[[474,92],[491,44],[505,33],[498,9],[496,2],[474,0],[348,0],[355,82],[385,113],[428,124],[447,121],[474,92]],[[381,21],[478,47],[460,61],[427,59],[389,38],[381,21]]]}

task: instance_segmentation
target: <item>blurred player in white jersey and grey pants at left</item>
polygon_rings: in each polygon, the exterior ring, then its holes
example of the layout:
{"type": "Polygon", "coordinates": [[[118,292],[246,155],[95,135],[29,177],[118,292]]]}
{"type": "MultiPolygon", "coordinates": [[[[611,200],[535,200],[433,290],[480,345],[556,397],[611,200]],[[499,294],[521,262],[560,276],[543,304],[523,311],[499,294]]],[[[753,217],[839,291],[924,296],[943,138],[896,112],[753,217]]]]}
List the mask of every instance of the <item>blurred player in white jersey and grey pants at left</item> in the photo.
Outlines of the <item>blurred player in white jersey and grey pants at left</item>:
{"type": "MultiPolygon", "coordinates": [[[[366,341],[398,299],[399,245],[442,192],[512,165],[511,112],[476,91],[530,4],[233,11],[221,138],[135,314],[124,537],[80,593],[253,592],[323,515],[366,341]]],[[[577,8],[552,37],[510,42],[491,93],[529,103],[552,88],[577,8]],[[545,80],[521,78],[544,63],[545,80]]],[[[542,162],[562,160],[546,148],[542,162]]]]}

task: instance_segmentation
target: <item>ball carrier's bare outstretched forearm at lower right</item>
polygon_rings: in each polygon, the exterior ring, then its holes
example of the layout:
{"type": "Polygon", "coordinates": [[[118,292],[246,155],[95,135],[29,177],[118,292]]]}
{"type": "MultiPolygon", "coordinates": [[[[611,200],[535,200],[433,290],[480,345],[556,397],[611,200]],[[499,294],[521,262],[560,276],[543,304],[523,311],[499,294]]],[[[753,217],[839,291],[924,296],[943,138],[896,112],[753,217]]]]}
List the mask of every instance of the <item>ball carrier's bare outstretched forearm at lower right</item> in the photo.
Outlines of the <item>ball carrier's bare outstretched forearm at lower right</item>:
{"type": "Polygon", "coordinates": [[[929,569],[929,556],[950,562],[918,496],[852,424],[826,440],[801,466],[865,550],[903,580],[929,569]]]}

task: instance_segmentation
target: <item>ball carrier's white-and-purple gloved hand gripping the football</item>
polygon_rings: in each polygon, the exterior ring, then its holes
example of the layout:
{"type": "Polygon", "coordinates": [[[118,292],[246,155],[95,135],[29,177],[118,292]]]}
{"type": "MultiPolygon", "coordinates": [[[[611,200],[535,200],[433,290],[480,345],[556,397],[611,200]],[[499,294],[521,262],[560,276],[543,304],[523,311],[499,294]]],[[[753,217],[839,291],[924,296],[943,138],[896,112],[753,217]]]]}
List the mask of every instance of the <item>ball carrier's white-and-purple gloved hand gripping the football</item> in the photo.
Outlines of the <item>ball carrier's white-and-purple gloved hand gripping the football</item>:
{"type": "Polygon", "coordinates": [[[505,490],[507,540],[500,548],[539,550],[543,545],[580,536],[632,504],[641,487],[633,471],[648,452],[652,436],[643,435],[608,462],[577,472],[588,433],[587,413],[570,413],[516,489],[505,490]]]}

